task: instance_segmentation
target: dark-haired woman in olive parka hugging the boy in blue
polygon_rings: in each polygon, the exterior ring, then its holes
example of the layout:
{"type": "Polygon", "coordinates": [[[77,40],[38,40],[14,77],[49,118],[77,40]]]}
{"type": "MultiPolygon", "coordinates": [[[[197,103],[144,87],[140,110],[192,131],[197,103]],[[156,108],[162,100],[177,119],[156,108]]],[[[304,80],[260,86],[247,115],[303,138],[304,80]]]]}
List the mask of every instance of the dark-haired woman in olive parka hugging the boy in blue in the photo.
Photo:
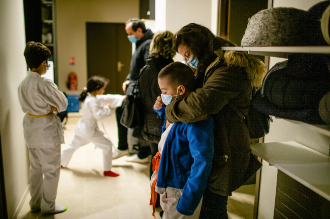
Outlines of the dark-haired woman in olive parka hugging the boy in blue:
{"type": "Polygon", "coordinates": [[[166,107],[167,122],[191,123],[213,117],[214,157],[200,218],[228,218],[228,196],[261,164],[250,153],[245,122],[227,104],[247,116],[252,87],[261,85],[265,67],[246,52],[223,52],[221,47],[236,45],[199,24],[182,27],[175,33],[173,44],[174,50],[195,70],[196,90],[166,107]]]}

